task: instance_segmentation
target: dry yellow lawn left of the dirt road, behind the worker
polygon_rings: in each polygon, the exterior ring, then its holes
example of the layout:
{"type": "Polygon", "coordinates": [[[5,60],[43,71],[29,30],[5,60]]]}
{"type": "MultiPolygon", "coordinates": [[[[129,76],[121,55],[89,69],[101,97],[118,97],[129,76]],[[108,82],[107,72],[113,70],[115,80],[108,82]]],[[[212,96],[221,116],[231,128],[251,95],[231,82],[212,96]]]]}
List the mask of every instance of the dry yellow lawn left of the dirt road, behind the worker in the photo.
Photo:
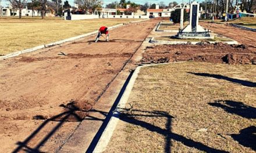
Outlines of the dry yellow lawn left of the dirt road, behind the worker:
{"type": "Polygon", "coordinates": [[[49,17],[0,17],[0,54],[32,48],[62,39],[75,37],[98,30],[101,25],[107,27],[141,19],[91,19],[65,21],[49,17]]]}

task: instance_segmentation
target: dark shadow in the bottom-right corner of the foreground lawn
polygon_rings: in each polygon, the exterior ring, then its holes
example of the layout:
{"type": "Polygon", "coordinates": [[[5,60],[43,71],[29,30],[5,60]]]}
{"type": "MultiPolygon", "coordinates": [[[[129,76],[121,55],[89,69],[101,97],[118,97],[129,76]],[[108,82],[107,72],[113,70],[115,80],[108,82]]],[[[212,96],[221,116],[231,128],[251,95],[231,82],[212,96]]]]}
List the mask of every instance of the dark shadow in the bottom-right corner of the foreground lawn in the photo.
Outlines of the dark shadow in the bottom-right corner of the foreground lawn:
{"type": "Polygon", "coordinates": [[[250,126],[240,130],[239,134],[230,134],[230,136],[244,147],[250,147],[256,151],[256,127],[250,126]]]}

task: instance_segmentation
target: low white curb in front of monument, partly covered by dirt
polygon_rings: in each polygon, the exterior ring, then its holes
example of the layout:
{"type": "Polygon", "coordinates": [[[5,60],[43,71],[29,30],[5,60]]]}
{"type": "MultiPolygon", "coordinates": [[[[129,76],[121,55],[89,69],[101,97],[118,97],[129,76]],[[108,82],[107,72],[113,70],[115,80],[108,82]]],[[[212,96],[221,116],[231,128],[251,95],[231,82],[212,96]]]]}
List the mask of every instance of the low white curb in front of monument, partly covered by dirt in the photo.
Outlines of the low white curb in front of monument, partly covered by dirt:
{"type": "MultiPolygon", "coordinates": [[[[155,40],[155,37],[153,37],[152,39],[150,39],[150,43],[159,43],[161,45],[175,45],[175,44],[187,44],[189,41],[157,41],[155,40]]],[[[198,42],[190,42],[191,45],[196,45],[197,43],[200,43],[201,41],[198,42]]],[[[209,43],[216,43],[216,42],[221,42],[221,41],[208,41],[209,43]]],[[[233,45],[233,44],[238,44],[237,41],[227,41],[227,42],[223,42],[223,43],[227,43],[228,45],[233,45]]]]}

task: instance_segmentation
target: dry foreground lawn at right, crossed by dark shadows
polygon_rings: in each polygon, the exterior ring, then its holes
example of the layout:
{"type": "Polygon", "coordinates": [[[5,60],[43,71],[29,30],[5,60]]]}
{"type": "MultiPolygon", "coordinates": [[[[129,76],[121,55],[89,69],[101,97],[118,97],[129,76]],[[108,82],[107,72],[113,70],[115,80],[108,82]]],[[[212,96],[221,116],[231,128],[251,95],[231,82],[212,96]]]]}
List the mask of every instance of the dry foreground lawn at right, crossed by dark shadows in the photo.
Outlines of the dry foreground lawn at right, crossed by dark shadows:
{"type": "Polygon", "coordinates": [[[141,68],[105,152],[254,152],[255,71],[196,62],[141,68]]]}

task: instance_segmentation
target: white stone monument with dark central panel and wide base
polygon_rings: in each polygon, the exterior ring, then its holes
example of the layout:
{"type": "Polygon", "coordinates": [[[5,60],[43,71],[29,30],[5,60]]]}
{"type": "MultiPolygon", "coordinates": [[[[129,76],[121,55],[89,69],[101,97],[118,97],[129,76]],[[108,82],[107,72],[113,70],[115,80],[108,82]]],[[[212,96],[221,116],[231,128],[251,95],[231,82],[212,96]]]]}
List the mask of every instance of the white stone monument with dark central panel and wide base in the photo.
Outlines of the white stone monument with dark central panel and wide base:
{"type": "Polygon", "coordinates": [[[199,3],[193,2],[190,5],[190,21],[189,25],[187,25],[185,28],[183,28],[183,9],[180,16],[180,29],[178,34],[176,35],[177,38],[180,39],[208,39],[212,38],[209,34],[209,30],[206,30],[205,28],[202,28],[198,24],[198,14],[199,14],[199,3]],[[183,29],[182,29],[183,28],[183,29]]]}

